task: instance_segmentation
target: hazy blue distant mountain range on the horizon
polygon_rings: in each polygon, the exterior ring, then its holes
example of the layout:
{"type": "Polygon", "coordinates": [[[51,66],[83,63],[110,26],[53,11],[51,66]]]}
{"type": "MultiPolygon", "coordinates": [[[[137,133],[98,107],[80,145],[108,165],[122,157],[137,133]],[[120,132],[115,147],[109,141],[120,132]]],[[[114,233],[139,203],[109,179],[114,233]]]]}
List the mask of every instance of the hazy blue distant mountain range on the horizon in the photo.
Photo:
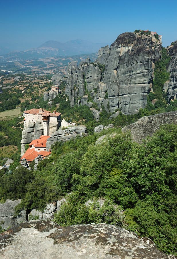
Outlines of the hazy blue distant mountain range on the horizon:
{"type": "Polygon", "coordinates": [[[108,45],[107,43],[93,43],[80,39],[61,43],[59,41],[46,41],[41,46],[26,51],[10,52],[3,55],[10,59],[35,59],[57,56],[73,56],[80,54],[89,54],[98,52],[101,47],[108,45]]]}

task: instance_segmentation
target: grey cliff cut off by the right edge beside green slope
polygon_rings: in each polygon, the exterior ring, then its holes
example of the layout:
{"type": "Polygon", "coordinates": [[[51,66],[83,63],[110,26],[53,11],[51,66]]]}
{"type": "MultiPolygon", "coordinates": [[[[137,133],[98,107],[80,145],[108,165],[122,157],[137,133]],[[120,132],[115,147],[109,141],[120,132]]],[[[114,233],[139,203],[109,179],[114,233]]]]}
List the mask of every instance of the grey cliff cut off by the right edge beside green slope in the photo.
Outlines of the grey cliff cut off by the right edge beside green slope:
{"type": "Polygon", "coordinates": [[[177,41],[171,43],[168,47],[169,55],[171,56],[170,64],[168,66],[168,72],[170,72],[169,82],[165,82],[164,88],[167,88],[167,100],[173,101],[177,98],[177,41]]]}

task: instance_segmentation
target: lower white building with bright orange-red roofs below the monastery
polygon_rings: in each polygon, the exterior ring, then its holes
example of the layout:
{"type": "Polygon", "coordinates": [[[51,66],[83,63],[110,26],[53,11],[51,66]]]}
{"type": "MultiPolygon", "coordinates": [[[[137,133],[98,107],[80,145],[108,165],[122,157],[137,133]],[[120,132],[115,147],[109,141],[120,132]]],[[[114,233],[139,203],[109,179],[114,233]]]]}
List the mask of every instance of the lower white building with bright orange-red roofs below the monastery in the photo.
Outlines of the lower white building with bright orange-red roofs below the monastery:
{"type": "Polygon", "coordinates": [[[29,143],[29,148],[21,157],[21,160],[25,158],[28,163],[31,163],[39,155],[42,158],[45,158],[46,156],[50,155],[51,152],[46,151],[46,142],[48,138],[50,138],[50,136],[42,135],[40,136],[40,138],[32,140],[32,142],[29,143]]]}

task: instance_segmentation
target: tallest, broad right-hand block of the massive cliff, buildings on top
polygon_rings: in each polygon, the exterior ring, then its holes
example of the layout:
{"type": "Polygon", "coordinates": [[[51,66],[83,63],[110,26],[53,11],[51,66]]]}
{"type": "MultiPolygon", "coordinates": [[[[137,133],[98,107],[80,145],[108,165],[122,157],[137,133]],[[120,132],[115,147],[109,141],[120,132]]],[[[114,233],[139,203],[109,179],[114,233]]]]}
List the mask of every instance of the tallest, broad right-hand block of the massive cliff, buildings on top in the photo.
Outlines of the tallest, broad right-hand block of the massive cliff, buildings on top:
{"type": "Polygon", "coordinates": [[[134,33],[119,35],[111,45],[102,80],[111,112],[120,108],[124,114],[133,114],[146,106],[160,47],[154,36],[134,33]]]}

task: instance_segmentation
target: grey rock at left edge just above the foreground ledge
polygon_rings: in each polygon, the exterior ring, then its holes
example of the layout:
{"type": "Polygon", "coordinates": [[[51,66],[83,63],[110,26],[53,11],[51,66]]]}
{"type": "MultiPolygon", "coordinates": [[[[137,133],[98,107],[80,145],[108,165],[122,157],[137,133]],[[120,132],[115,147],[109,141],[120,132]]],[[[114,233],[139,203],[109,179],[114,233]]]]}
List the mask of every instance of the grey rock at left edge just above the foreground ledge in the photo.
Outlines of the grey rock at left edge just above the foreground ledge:
{"type": "Polygon", "coordinates": [[[26,212],[22,210],[17,218],[14,218],[15,206],[21,202],[21,199],[16,201],[7,200],[5,203],[0,203],[0,226],[7,229],[9,226],[23,222],[26,220],[26,212]]]}

